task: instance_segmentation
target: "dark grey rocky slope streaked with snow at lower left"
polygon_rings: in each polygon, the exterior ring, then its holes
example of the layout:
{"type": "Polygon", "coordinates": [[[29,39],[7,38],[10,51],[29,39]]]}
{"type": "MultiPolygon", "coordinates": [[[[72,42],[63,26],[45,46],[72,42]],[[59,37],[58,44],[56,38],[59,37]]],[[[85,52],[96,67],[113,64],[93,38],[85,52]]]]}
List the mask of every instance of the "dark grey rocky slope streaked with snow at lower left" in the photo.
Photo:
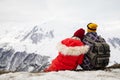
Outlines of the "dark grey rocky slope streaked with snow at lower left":
{"type": "Polygon", "coordinates": [[[0,71],[40,72],[48,66],[48,58],[35,53],[0,48],[0,71]]]}

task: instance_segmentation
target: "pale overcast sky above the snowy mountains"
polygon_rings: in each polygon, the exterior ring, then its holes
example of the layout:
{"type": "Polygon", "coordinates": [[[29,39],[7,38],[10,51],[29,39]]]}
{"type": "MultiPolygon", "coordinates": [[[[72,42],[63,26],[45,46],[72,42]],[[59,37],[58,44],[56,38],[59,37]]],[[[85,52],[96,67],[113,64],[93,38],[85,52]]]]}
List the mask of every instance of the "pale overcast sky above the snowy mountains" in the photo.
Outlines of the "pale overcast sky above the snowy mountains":
{"type": "Polygon", "coordinates": [[[0,0],[0,22],[120,22],[120,0],[0,0]]]}

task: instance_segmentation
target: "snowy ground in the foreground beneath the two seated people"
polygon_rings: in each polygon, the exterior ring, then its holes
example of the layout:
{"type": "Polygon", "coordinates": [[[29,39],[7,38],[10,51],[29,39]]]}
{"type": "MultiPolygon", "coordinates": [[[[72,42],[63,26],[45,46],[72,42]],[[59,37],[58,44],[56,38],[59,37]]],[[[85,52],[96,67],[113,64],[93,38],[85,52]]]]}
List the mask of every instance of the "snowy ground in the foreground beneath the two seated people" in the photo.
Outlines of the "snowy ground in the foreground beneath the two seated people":
{"type": "Polygon", "coordinates": [[[48,73],[16,72],[0,76],[0,80],[120,80],[120,69],[111,71],[59,71],[48,73]]]}

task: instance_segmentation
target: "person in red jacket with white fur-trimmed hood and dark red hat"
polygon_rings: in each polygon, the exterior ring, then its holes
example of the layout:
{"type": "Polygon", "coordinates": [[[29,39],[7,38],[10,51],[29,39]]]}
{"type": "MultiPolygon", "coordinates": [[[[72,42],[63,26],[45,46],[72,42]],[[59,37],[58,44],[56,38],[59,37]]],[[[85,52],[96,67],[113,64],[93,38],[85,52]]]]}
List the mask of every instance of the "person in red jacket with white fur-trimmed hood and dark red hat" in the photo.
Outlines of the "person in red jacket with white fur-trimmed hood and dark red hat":
{"type": "Polygon", "coordinates": [[[80,28],[71,38],[66,38],[58,43],[58,56],[44,71],[75,70],[78,64],[82,64],[84,53],[89,50],[89,46],[84,45],[81,41],[84,33],[85,30],[80,28]]]}

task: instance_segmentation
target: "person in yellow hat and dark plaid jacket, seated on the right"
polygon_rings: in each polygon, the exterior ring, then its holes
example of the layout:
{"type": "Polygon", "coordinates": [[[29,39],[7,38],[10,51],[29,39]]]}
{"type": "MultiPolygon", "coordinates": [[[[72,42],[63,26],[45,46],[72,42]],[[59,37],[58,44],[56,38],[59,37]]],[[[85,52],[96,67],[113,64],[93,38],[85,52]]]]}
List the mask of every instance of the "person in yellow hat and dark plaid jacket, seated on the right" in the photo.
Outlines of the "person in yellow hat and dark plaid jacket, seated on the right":
{"type": "MultiPolygon", "coordinates": [[[[89,48],[89,51],[84,56],[83,64],[80,65],[83,68],[83,70],[98,69],[98,67],[96,68],[96,63],[97,62],[98,63],[100,62],[100,65],[102,65],[103,67],[106,67],[106,65],[108,65],[108,62],[109,62],[108,58],[106,60],[106,57],[104,57],[104,58],[101,57],[100,59],[98,59],[98,61],[96,61],[96,59],[95,59],[96,57],[94,57],[99,53],[101,54],[102,52],[108,51],[108,53],[109,53],[109,49],[105,50],[106,46],[102,46],[102,47],[99,47],[99,48],[94,47],[94,45],[97,42],[104,42],[104,43],[106,42],[104,38],[102,38],[101,36],[99,36],[97,34],[97,32],[96,32],[97,28],[98,28],[98,25],[96,23],[87,24],[87,33],[85,34],[82,41],[83,41],[84,44],[89,45],[90,48],[89,48]],[[96,48],[98,51],[95,50],[94,48],[96,48]],[[102,51],[100,52],[99,49],[102,50],[102,51]],[[105,59],[105,60],[102,60],[102,59],[105,59]],[[93,63],[95,63],[95,64],[93,64],[93,63]]],[[[99,56],[97,56],[97,57],[99,57],[99,56]]],[[[107,55],[107,57],[109,57],[109,54],[107,55]]],[[[100,69],[100,67],[99,67],[99,69],[100,69]]]]}

